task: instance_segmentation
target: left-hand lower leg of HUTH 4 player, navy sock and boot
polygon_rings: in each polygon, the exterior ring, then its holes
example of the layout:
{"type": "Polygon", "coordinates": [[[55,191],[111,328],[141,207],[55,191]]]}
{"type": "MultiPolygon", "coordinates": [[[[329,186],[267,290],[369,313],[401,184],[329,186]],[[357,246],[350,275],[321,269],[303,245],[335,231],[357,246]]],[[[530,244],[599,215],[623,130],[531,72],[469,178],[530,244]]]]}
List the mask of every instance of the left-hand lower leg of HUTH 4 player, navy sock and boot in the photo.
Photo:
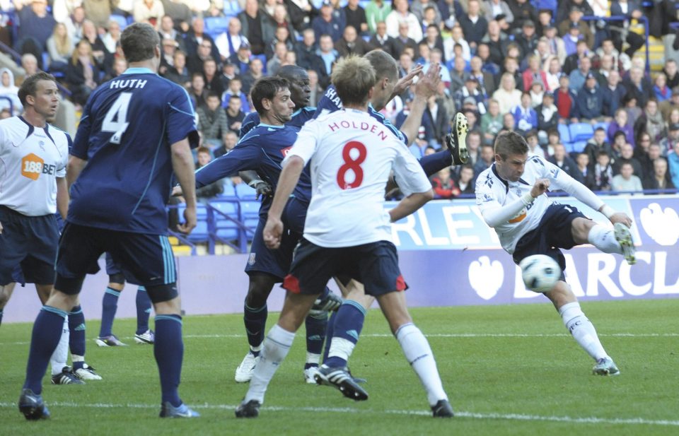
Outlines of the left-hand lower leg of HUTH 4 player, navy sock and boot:
{"type": "Polygon", "coordinates": [[[19,397],[19,411],[28,420],[49,418],[50,412],[42,401],[42,376],[47,363],[62,336],[64,319],[68,314],[56,307],[43,306],[33,323],[30,338],[26,379],[19,397]]]}

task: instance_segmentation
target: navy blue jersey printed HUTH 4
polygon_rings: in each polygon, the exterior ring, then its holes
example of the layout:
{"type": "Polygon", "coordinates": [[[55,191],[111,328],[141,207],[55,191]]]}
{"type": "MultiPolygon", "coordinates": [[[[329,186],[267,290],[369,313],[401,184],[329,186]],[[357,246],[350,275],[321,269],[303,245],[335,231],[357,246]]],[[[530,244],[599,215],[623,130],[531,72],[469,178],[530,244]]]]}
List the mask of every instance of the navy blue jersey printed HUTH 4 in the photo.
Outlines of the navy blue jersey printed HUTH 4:
{"type": "Polygon", "coordinates": [[[97,88],[83,109],[71,155],[87,165],[71,187],[67,221],[165,235],[173,143],[198,146],[184,88],[150,69],[130,68],[97,88]]]}

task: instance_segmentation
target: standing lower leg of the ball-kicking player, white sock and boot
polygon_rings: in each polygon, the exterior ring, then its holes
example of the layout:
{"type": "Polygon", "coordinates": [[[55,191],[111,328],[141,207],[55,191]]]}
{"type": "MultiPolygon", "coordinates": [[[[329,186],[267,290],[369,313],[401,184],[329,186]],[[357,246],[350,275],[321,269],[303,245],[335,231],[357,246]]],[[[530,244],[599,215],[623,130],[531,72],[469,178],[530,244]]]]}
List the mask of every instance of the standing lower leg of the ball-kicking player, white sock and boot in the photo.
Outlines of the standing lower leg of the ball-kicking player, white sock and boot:
{"type": "Polygon", "coordinates": [[[593,373],[596,375],[619,375],[620,370],[601,345],[594,325],[582,312],[580,303],[577,302],[570,286],[564,281],[559,281],[555,288],[545,295],[557,307],[564,325],[575,341],[596,361],[593,373]]]}

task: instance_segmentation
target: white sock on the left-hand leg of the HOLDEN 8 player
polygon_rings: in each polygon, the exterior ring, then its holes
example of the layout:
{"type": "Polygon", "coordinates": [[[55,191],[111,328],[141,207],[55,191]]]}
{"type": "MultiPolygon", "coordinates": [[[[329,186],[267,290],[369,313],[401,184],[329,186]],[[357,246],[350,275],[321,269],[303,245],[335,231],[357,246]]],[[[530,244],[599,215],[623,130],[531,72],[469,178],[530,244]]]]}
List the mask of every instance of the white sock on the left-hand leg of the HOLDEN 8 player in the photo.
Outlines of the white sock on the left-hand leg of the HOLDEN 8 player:
{"type": "Polygon", "coordinates": [[[279,365],[283,362],[295,338],[294,331],[282,329],[278,324],[274,325],[264,341],[264,348],[260,353],[260,361],[255,367],[253,379],[250,380],[250,389],[245,394],[245,402],[257,400],[264,403],[264,394],[269,382],[274,377],[279,365]]]}

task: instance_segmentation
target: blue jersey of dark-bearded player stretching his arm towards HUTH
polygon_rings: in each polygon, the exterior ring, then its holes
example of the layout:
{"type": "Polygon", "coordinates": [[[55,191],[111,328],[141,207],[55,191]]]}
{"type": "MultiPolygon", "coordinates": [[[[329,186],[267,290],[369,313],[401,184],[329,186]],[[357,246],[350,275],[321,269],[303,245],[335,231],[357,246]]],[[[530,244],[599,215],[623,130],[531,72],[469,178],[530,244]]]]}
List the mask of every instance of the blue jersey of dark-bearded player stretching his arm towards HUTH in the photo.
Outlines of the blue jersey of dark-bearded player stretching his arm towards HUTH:
{"type": "MultiPolygon", "coordinates": [[[[196,172],[196,187],[204,187],[224,177],[238,175],[239,171],[253,170],[262,180],[276,189],[281,174],[281,163],[297,140],[299,128],[285,124],[271,126],[259,124],[238,141],[236,147],[219,156],[196,172]]],[[[311,201],[311,177],[302,172],[293,196],[308,204],[311,201]]],[[[271,198],[265,197],[260,216],[271,206],[271,198]]]]}

